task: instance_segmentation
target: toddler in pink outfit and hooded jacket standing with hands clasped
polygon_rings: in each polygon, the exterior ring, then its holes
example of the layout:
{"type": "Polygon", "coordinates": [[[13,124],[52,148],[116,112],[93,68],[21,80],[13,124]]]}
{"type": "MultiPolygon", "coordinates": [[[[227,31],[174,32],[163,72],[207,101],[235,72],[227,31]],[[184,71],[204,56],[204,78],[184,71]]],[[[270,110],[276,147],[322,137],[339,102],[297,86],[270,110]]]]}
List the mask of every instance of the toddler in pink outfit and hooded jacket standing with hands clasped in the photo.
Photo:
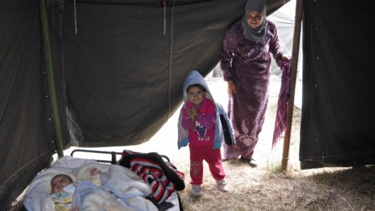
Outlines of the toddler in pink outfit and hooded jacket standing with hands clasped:
{"type": "Polygon", "coordinates": [[[203,160],[207,162],[218,188],[227,192],[229,189],[224,179],[220,152],[223,131],[221,125],[218,125],[219,106],[213,102],[204,78],[197,71],[191,71],[187,75],[184,102],[178,122],[178,147],[186,146],[187,143],[189,145],[191,193],[193,196],[200,196],[202,193],[200,185],[203,183],[203,160]]]}

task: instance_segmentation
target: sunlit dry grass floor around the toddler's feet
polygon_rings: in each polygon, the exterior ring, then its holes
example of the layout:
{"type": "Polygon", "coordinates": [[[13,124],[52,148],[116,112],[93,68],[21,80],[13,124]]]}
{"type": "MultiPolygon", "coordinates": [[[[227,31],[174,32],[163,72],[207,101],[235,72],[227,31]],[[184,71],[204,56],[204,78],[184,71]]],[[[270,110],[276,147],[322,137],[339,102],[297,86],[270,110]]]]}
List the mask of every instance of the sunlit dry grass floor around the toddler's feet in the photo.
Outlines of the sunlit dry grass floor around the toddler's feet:
{"type": "MultiPolygon", "coordinates": [[[[220,192],[206,168],[202,197],[192,197],[189,185],[180,192],[185,211],[375,210],[374,166],[290,169],[284,174],[234,160],[224,168],[230,192],[220,192]]],[[[184,173],[188,184],[188,169],[184,173]]]]}

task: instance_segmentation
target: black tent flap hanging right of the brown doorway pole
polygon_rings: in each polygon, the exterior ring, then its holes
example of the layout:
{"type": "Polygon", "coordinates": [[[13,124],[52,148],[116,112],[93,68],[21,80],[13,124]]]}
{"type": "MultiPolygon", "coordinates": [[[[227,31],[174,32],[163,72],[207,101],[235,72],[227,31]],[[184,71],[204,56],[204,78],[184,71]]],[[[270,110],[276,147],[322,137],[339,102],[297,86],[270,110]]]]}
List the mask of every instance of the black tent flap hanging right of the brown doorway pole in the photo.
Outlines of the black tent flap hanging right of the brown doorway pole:
{"type": "Polygon", "coordinates": [[[304,1],[302,169],[375,163],[375,29],[369,27],[375,15],[369,3],[304,1]]]}

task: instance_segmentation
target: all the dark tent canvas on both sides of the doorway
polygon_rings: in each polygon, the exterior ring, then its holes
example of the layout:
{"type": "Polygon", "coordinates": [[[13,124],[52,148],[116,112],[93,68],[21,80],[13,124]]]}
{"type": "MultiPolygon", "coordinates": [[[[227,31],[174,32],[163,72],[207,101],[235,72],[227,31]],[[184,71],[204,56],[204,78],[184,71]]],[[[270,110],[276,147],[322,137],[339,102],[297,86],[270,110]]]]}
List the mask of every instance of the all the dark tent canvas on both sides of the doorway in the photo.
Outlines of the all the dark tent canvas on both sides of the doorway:
{"type": "MultiPolygon", "coordinates": [[[[168,2],[48,1],[64,148],[147,141],[180,104],[187,72],[217,64],[246,0],[168,2]]],[[[271,12],[285,1],[267,2],[271,12]]],[[[370,1],[303,4],[302,168],[374,163],[370,1]]],[[[56,131],[39,1],[1,1],[0,21],[4,210],[50,164],[56,131]]]]}

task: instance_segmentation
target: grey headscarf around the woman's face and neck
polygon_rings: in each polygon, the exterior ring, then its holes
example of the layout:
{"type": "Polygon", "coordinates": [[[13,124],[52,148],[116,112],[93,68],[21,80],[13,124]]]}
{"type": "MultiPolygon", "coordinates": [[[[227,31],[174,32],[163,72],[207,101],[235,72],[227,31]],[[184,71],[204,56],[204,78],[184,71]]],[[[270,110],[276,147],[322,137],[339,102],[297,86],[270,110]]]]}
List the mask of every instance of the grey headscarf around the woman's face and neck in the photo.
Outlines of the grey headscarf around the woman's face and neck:
{"type": "Polygon", "coordinates": [[[266,31],[267,18],[266,18],[267,4],[265,0],[248,0],[245,7],[245,15],[242,17],[242,25],[245,30],[245,37],[249,40],[258,41],[263,37],[266,31]],[[250,11],[262,12],[263,19],[259,26],[252,28],[247,23],[247,13],[250,11]]]}

